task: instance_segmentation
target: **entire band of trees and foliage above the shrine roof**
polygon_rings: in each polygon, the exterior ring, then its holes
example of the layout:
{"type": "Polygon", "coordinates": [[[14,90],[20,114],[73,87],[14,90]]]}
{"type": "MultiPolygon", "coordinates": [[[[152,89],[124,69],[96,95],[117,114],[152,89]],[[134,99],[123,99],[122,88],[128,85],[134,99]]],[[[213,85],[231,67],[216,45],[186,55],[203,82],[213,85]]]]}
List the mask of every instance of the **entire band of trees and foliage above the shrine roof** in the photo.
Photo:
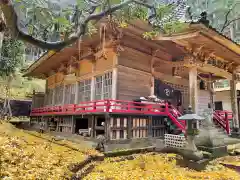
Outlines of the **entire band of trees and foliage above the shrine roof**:
{"type": "MultiPolygon", "coordinates": [[[[109,18],[125,27],[130,20],[148,21],[154,32],[184,28],[179,20],[196,21],[206,12],[219,32],[234,30],[238,39],[239,0],[0,0],[5,23],[13,37],[43,49],[61,49],[83,35],[96,32],[96,24],[109,18]],[[182,18],[187,12],[187,19],[182,18]]],[[[0,26],[2,30],[4,26],[0,26]]],[[[240,39],[240,38],[239,38],[240,39]]]]}

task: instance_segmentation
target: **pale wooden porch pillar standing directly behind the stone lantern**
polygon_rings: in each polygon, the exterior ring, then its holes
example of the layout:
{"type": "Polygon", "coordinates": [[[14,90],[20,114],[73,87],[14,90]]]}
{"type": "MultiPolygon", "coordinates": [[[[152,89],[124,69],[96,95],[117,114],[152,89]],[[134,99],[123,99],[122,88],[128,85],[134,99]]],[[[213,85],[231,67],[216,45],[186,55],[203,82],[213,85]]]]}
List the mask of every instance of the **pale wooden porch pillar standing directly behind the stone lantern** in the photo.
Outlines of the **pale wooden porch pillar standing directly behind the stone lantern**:
{"type": "Polygon", "coordinates": [[[189,103],[194,113],[197,113],[198,101],[197,67],[191,67],[189,71],[189,103]]]}

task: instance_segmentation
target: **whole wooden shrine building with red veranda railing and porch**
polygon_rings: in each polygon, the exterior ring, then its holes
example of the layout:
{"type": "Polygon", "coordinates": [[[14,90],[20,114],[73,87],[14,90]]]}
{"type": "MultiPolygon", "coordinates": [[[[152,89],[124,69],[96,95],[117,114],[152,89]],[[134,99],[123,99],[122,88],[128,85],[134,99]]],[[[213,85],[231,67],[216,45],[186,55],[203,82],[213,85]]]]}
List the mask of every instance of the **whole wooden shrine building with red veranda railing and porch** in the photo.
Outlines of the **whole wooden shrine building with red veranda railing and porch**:
{"type": "MultiPolygon", "coordinates": [[[[177,118],[189,105],[198,114],[213,107],[213,82],[229,79],[233,126],[239,128],[240,47],[202,24],[155,40],[144,39],[146,31],[151,27],[141,21],[123,29],[103,22],[100,33],[33,63],[26,76],[47,83],[44,102],[33,103],[32,126],[44,121],[51,131],[89,130],[92,138],[103,134],[113,142],[161,138],[184,132],[177,118]],[[140,98],[151,95],[161,101],[140,98]]],[[[214,120],[230,133],[223,112],[214,112],[214,120]]]]}

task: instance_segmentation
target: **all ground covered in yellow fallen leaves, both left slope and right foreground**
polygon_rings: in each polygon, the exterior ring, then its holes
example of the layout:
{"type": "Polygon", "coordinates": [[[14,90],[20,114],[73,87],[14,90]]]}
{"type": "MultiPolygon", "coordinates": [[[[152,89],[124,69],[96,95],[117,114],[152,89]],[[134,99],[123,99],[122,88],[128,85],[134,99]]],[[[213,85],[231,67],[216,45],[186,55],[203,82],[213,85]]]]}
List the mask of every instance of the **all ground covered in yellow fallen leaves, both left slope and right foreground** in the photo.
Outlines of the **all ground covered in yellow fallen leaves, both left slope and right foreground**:
{"type": "MultiPolygon", "coordinates": [[[[51,140],[52,137],[46,134],[19,130],[7,123],[0,124],[0,179],[3,177],[10,177],[11,180],[67,179],[72,175],[69,165],[83,161],[89,154],[99,155],[93,149],[86,149],[84,144],[51,140]]],[[[176,165],[175,154],[149,153],[134,156],[134,160],[120,162],[114,162],[121,159],[120,157],[106,158],[103,162],[96,163],[93,171],[84,179],[240,179],[237,172],[219,165],[220,162],[237,165],[240,162],[240,157],[237,156],[216,159],[203,172],[180,168],[176,165]]]]}

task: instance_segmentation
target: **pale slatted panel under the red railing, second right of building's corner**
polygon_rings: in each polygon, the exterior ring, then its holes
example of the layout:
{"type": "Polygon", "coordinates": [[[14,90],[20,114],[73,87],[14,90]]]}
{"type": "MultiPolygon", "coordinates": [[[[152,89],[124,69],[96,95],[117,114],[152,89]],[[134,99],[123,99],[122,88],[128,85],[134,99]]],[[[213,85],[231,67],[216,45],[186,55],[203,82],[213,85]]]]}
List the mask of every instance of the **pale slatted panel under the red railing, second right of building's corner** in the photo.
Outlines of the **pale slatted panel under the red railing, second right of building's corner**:
{"type": "Polygon", "coordinates": [[[133,120],[132,120],[132,137],[133,138],[148,137],[148,119],[133,118],[133,120]]]}

